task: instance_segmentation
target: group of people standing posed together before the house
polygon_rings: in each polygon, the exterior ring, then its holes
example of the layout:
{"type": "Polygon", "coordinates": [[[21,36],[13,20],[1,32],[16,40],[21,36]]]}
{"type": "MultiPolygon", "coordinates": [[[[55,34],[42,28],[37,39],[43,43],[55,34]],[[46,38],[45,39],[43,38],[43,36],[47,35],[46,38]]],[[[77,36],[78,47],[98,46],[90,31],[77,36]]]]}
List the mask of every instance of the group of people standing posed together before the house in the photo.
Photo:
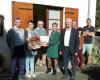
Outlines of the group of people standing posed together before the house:
{"type": "MultiPolygon", "coordinates": [[[[94,36],[94,27],[91,25],[91,19],[86,20],[87,25],[82,29],[78,28],[76,21],[71,18],[66,18],[65,28],[61,32],[57,31],[58,23],[52,23],[51,35],[47,46],[42,46],[38,50],[34,50],[34,46],[28,44],[32,36],[47,36],[44,22],[37,21],[37,27],[34,28],[34,22],[28,21],[27,29],[21,28],[21,19],[15,18],[14,26],[8,31],[7,43],[11,50],[11,72],[12,80],[16,75],[18,67],[19,77],[36,77],[35,66],[39,62],[39,57],[42,58],[42,65],[47,67],[46,73],[52,75],[57,73],[59,66],[63,73],[62,78],[67,78],[70,75],[70,80],[76,80],[76,69],[83,67],[83,54],[88,53],[86,65],[90,64],[92,53],[92,37],[94,36]],[[61,62],[60,66],[59,62],[61,62]],[[68,69],[69,62],[71,70],[68,69]]],[[[45,67],[44,66],[44,67],[45,67]]]]}

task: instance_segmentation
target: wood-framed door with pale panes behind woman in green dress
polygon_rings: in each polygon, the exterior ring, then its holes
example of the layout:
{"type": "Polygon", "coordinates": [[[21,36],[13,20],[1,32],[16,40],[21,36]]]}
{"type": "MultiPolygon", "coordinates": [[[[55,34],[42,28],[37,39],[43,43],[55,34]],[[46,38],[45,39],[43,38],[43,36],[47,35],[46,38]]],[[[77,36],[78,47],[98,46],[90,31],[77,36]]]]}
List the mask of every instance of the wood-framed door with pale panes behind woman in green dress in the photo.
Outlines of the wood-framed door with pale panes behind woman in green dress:
{"type": "Polygon", "coordinates": [[[63,28],[63,8],[47,7],[46,9],[46,29],[48,35],[52,32],[52,23],[58,23],[58,31],[63,28]]]}

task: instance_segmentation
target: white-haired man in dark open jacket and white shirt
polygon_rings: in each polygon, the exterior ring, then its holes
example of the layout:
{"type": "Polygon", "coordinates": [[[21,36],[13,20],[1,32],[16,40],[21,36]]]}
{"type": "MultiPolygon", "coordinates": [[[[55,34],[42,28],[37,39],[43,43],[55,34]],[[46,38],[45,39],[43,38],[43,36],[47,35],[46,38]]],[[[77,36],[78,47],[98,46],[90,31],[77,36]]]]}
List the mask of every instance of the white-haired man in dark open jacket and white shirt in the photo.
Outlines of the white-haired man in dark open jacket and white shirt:
{"type": "Polygon", "coordinates": [[[61,31],[60,45],[62,56],[64,60],[64,76],[62,78],[68,77],[68,63],[71,61],[72,66],[72,76],[70,76],[70,80],[76,80],[76,59],[78,47],[79,47],[79,39],[78,32],[76,29],[72,28],[72,19],[66,18],[66,27],[61,31]]]}

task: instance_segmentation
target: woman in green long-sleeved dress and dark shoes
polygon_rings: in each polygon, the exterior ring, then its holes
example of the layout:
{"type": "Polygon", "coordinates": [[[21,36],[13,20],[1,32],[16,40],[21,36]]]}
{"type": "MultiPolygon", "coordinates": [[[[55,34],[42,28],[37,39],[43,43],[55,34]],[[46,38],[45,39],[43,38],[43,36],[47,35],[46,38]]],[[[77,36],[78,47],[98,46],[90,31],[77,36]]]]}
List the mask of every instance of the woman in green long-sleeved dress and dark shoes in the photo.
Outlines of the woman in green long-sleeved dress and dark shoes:
{"type": "Polygon", "coordinates": [[[48,61],[48,69],[46,73],[51,72],[51,60],[54,62],[54,68],[52,75],[56,74],[56,67],[58,64],[58,47],[59,47],[59,32],[57,31],[58,24],[54,22],[52,24],[53,31],[51,33],[51,36],[49,38],[49,47],[47,49],[47,61],[48,61]]]}

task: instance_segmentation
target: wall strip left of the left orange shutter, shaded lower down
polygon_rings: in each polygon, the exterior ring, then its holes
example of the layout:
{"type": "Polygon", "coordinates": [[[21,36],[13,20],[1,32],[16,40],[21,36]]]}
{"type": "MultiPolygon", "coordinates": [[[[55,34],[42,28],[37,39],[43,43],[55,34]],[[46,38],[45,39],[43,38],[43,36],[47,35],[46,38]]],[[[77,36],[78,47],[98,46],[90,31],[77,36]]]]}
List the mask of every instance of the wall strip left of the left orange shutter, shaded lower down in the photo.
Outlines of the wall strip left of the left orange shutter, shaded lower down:
{"type": "Polygon", "coordinates": [[[0,1],[0,14],[4,15],[4,35],[0,37],[0,54],[4,56],[5,59],[5,68],[10,67],[10,50],[6,44],[6,34],[7,31],[11,28],[11,2],[5,0],[0,1]]]}

